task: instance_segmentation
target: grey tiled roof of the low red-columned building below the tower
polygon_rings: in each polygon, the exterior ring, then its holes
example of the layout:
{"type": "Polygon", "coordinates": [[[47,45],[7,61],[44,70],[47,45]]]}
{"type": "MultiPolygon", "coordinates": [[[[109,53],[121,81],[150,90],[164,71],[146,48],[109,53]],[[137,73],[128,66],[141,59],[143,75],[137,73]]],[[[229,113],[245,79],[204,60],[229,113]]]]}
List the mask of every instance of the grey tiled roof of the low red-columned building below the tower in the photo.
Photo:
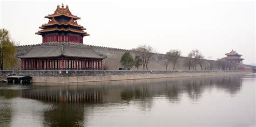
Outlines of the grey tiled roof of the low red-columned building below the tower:
{"type": "Polygon", "coordinates": [[[97,54],[92,48],[73,45],[69,43],[60,43],[59,45],[48,46],[38,45],[33,46],[26,54],[17,56],[18,58],[91,58],[104,59],[105,56],[97,54]]]}

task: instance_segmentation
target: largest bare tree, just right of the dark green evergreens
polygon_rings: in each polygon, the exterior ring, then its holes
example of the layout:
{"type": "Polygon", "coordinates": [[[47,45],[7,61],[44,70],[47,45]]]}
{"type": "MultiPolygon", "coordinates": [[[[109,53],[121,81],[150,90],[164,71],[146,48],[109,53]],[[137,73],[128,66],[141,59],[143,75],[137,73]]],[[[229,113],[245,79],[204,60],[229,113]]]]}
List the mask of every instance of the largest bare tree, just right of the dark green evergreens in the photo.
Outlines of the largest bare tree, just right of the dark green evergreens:
{"type": "Polygon", "coordinates": [[[154,48],[149,45],[144,44],[144,45],[140,45],[137,48],[135,48],[134,51],[136,51],[142,58],[143,69],[145,70],[145,66],[146,66],[146,69],[148,69],[147,64],[149,63],[149,61],[152,58],[152,55],[155,52],[154,48]]]}

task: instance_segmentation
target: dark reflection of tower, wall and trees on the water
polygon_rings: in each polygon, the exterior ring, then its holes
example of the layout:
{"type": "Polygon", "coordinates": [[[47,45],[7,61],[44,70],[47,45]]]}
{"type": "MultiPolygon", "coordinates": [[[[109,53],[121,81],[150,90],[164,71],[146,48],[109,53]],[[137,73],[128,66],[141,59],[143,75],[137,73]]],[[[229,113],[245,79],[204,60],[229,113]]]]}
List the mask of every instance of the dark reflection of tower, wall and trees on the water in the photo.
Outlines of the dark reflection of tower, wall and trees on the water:
{"type": "Polygon", "coordinates": [[[111,105],[136,104],[141,110],[150,111],[155,100],[164,98],[171,104],[179,104],[184,100],[184,96],[187,96],[190,101],[199,102],[212,90],[224,91],[230,96],[235,96],[241,87],[241,78],[233,76],[86,82],[69,85],[51,84],[51,86],[39,83],[16,87],[1,84],[0,125],[10,125],[11,119],[17,120],[21,118],[17,115],[24,116],[26,112],[31,112],[25,116],[29,118],[29,115],[33,116],[33,110],[42,112],[36,115],[42,115],[40,117],[43,120],[38,117],[37,121],[41,121],[40,124],[46,126],[84,125],[90,121],[95,112],[93,109],[96,107],[109,108],[111,105]],[[24,112],[17,106],[21,103],[15,102],[23,102],[22,104],[27,105],[27,108],[31,108],[28,105],[34,105],[33,107],[44,105],[44,107],[41,107],[42,110],[26,109],[24,112]]]}

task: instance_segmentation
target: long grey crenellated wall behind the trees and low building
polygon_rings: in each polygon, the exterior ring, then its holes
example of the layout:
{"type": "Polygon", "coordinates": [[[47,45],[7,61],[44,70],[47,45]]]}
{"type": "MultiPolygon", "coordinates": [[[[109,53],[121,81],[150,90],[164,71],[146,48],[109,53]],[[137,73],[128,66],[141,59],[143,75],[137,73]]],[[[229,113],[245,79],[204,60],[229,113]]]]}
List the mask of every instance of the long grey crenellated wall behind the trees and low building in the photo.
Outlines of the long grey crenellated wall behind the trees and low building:
{"type": "MultiPolygon", "coordinates": [[[[43,44],[45,45],[49,45],[49,46],[54,46],[54,45],[59,45],[60,43],[50,43],[50,44],[43,44]]],[[[33,46],[41,46],[42,44],[37,44],[37,45],[26,45],[26,46],[18,46],[17,47],[17,54],[16,55],[22,55],[25,54],[26,52],[28,52],[29,50],[31,50],[31,48],[33,46]]],[[[122,57],[122,55],[125,52],[130,52],[132,57],[135,58],[135,56],[137,55],[136,52],[132,51],[132,50],[123,50],[123,49],[119,49],[119,48],[110,48],[110,47],[102,47],[102,46],[92,46],[92,45],[80,45],[80,44],[73,44],[73,45],[77,45],[77,46],[83,46],[86,48],[92,48],[94,51],[96,51],[98,54],[100,55],[105,55],[107,58],[103,60],[103,68],[104,69],[109,69],[109,70],[115,70],[118,69],[119,67],[122,67],[120,65],[120,59],[122,57]]],[[[165,65],[164,62],[161,60],[161,57],[163,57],[164,54],[154,54],[152,57],[152,60],[150,60],[149,65],[147,66],[149,70],[165,70],[165,65]]],[[[179,63],[176,64],[175,69],[176,70],[187,70],[188,67],[185,65],[185,60],[187,58],[186,57],[180,57],[179,63]]],[[[210,60],[204,60],[204,66],[203,69],[210,69],[210,67],[207,66],[207,62],[209,62],[210,60]]],[[[216,61],[212,60],[213,63],[216,63],[216,61]]],[[[215,64],[216,65],[216,64],[215,64]]],[[[21,61],[18,61],[18,66],[15,67],[15,69],[21,69],[21,61]]],[[[132,67],[131,69],[135,70],[137,68],[132,67]]],[[[139,70],[142,70],[143,66],[139,67],[139,70]]],[[[146,67],[145,67],[146,69],[146,67]]],[[[170,63],[170,65],[168,66],[167,70],[172,70],[173,69],[173,65],[172,63],[170,63]]],[[[193,67],[191,67],[190,69],[193,69],[193,67]]],[[[197,70],[200,70],[200,66],[197,65],[197,70]]],[[[214,70],[217,70],[217,66],[213,67],[214,70]]]]}

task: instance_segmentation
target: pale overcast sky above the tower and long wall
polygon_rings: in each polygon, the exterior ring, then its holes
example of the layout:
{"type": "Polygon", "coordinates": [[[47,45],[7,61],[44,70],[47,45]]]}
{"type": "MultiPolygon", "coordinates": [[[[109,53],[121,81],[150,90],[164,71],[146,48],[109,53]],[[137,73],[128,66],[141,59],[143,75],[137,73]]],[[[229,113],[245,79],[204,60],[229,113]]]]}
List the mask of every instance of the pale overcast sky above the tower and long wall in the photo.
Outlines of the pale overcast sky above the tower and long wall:
{"type": "Polygon", "coordinates": [[[206,58],[235,50],[255,62],[254,1],[1,1],[0,27],[20,45],[40,44],[35,34],[57,5],[69,5],[90,36],[84,44],[131,49],[142,44],[186,56],[199,49],[206,58]]]}

